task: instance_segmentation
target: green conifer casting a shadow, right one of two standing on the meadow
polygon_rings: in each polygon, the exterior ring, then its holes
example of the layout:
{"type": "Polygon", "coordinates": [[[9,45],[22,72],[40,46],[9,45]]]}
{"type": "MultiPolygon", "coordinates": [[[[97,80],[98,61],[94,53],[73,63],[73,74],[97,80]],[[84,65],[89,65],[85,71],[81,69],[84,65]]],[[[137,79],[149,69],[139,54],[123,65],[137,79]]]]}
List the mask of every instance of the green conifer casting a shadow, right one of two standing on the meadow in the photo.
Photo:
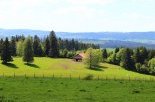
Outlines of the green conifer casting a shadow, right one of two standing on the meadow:
{"type": "Polygon", "coordinates": [[[32,63],[34,61],[33,58],[33,42],[32,42],[32,38],[28,37],[25,41],[24,41],[24,56],[23,56],[23,61],[28,63],[32,63]]]}

